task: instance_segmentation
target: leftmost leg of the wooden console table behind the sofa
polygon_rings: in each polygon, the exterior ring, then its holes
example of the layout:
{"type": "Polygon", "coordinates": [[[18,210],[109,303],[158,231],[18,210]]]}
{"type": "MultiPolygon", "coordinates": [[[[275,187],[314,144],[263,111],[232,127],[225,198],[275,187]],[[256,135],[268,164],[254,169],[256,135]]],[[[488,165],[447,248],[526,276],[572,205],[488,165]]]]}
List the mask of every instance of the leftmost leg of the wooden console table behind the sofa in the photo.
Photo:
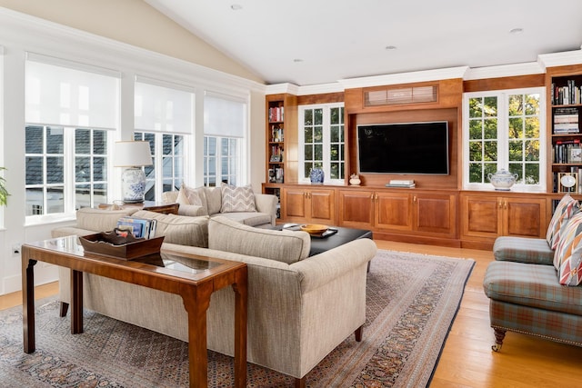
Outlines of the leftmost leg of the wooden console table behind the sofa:
{"type": "Polygon", "coordinates": [[[33,353],[35,343],[35,264],[28,249],[22,250],[22,310],[25,353],[33,353]]]}

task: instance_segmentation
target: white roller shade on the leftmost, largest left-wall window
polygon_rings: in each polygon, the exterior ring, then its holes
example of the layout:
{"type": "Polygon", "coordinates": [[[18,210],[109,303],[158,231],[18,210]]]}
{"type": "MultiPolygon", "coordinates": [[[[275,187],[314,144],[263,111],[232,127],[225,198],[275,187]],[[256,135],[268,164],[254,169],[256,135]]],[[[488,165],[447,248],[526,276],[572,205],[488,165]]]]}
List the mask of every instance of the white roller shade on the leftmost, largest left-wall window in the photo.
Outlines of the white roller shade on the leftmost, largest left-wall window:
{"type": "Polygon", "coordinates": [[[86,71],[93,68],[89,65],[80,65],[83,70],[74,66],[50,65],[42,62],[40,56],[28,56],[26,123],[115,129],[119,111],[118,77],[86,71]]]}

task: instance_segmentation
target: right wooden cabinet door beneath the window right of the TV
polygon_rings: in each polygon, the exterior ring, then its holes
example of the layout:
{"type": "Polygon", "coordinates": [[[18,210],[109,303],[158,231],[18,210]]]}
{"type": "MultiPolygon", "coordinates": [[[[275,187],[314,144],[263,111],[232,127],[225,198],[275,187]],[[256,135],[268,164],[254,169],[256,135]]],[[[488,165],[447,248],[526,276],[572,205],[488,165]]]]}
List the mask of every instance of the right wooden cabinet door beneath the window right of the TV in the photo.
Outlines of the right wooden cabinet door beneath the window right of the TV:
{"type": "Polygon", "coordinates": [[[546,200],[538,198],[502,198],[503,235],[546,237],[546,200]]]}

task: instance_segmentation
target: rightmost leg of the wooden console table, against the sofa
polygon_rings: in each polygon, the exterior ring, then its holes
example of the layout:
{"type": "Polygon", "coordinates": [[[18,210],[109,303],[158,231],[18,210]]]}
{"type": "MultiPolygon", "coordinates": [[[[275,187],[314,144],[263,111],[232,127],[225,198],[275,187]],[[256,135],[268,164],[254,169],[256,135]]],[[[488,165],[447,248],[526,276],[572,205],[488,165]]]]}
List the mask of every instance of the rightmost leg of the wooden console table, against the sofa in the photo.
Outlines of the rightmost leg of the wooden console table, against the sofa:
{"type": "Polygon", "coordinates": [[[246,267],[236,271],[235,290],[235,387],[246,387],[246,267]]]}

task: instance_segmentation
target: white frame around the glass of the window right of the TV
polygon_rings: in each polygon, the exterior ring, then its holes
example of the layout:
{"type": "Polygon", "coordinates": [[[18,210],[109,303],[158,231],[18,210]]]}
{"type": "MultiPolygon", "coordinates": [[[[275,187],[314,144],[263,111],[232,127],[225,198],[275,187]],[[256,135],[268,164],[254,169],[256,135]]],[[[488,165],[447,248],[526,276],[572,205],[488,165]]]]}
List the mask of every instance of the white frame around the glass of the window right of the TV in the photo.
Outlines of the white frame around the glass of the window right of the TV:
{"type": "Polygon", "coordinates": [[[517,192],[545,193],[547,182],[547,141],[546,141],[546,87],[527,87],[519,89],[491,90],[483,92],[471,92],[463,95],[463,189],[464,190],[491,190],[490,183],[469,183],[469,99],[476,97],[497,97],[497,170],[507,170],[509,164],[509,95],[539,95],[539,183],[517,183],[513,190],[517,192]]]}

